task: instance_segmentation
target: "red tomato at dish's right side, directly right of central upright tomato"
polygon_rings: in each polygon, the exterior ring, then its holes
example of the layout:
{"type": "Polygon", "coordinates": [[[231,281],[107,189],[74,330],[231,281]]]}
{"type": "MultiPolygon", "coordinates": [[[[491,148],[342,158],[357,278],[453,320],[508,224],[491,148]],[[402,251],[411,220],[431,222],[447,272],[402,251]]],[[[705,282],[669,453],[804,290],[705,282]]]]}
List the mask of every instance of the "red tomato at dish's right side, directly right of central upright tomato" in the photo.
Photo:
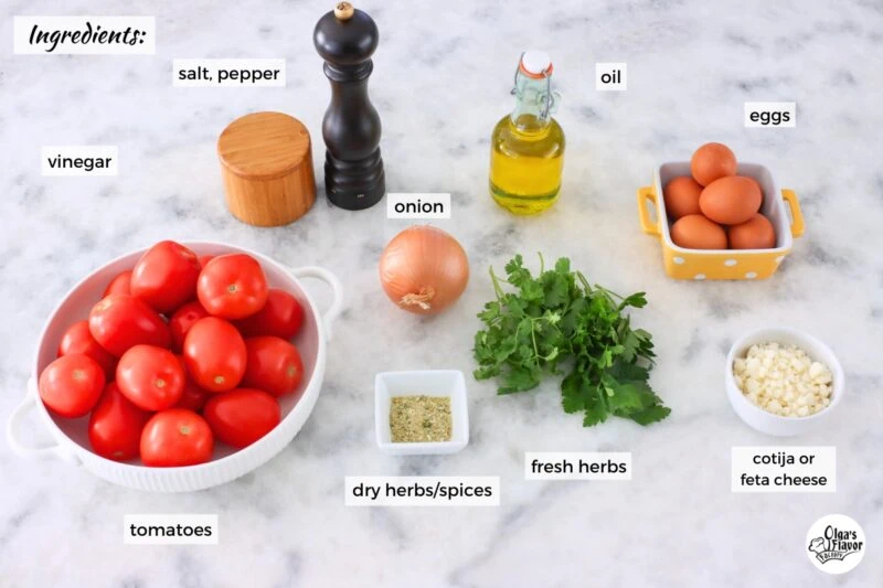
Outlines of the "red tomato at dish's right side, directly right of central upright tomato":
{"type": "Polygon", "coordinates": [[[242,385],[274,396],[297,389],[304,378],[304,364],[297,348],[278,336],[253,336],[245,340],[248,353],[242,385]]]}

